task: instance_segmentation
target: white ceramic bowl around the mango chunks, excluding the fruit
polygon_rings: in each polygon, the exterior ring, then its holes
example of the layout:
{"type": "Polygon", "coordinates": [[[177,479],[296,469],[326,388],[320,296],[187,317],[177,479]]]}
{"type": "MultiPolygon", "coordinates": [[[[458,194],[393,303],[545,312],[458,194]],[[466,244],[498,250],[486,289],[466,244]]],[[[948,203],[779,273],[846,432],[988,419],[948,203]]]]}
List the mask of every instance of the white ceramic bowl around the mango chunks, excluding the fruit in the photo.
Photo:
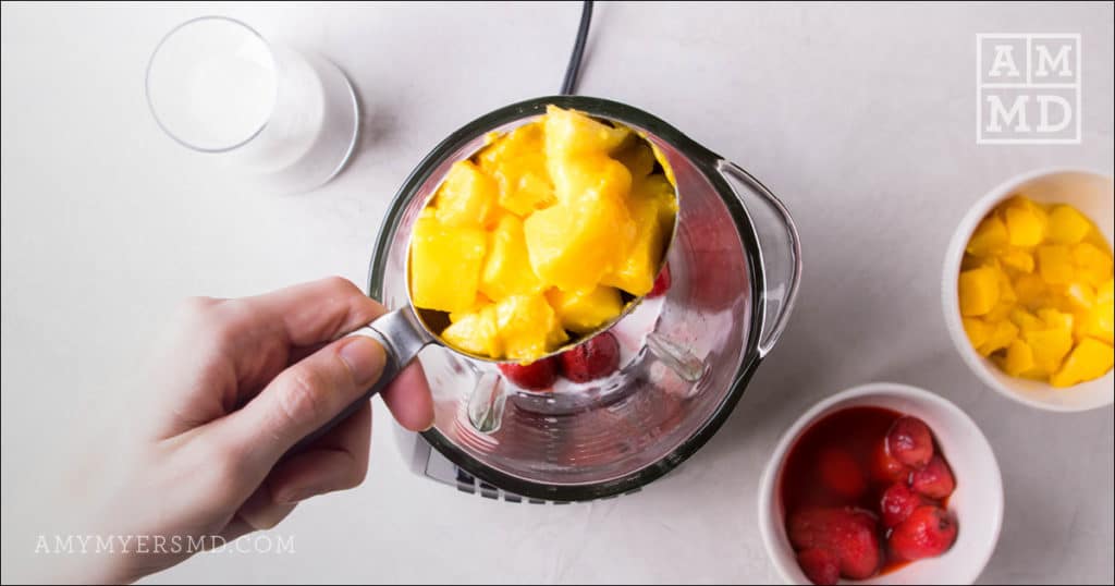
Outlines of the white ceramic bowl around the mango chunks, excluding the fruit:
{"type": "Polygon", "coordinates": [[[949,336],[968,366],[991,388],[1027,405],[1049,411],[1086,411],[1111,405],[1115,398],[1115,380],[1111,371],[1105,376],[1068,388],[1055,388],[1040,381],[1012,377],[1000,371],[991,361],[976,352],[964,334],[960,320],[960,301],[957,298],[957,278],[960,261],[972,232],[999,202],[1015,194],[1022,194],[1041,203],[1067,203],[1087,215],[1108,244],[1115,240],[1115,195],[1112,176],[1094,171],[1047,169],[1018,175],[995,188],[968,210],[957,232],[952,236],[944,257],[941,298],[944,304],[944,323],[949,336]]]}

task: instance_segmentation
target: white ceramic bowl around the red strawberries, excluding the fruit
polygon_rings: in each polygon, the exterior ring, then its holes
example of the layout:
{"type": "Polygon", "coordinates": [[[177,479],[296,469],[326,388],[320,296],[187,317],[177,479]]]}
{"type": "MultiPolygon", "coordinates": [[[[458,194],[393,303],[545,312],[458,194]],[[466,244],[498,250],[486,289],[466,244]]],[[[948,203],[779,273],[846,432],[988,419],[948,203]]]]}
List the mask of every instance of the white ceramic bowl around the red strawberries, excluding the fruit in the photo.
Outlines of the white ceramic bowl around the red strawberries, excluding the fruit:
{"type": "Polygon", "coordinates": [[[814,422],[854,406],[884,407],[914,415],[933,430],[957,478],[949,509],[956,512],[959,531],[957,542],[941,557],[922,559],[885,576],[850,584],[975,582],[991,558],[1002,526],[1002,479],[995,452],[976,423],[959,407],[929,391],[895,383],[872,383],[837,393],[817,403],[783,434],[763,472],[758,511],[763,542],[778,574],[787,584],[809,584],[786,537],[786,511],[778,491],[786,454],[814,422]]]}

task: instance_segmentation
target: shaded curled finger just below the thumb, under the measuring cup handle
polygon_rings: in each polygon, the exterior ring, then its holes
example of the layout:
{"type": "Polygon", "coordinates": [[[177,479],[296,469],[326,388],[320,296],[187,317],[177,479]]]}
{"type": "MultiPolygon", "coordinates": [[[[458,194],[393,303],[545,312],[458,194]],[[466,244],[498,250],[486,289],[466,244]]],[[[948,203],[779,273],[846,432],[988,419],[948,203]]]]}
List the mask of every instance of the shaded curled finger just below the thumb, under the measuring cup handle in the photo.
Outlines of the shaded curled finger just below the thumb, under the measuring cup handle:
{"type": "Polygon", "coordinates": [[[279,462],[268,477],[271,497],[293,503],[359,486],[368,473],[370,445],[371,403],[365,403],[308,450],[279,462]]]}

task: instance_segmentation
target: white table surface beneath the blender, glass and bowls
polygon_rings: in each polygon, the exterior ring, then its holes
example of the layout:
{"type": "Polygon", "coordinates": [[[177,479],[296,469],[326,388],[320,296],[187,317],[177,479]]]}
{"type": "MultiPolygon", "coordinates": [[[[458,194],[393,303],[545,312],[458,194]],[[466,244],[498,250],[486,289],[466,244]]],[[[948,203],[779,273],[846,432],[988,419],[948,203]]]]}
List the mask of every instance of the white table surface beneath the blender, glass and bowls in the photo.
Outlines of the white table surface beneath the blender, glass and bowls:
{"type": "MultiPolygon", "coordinates": [[[[2,9],[3,580],[33,578],[41,494],[186,295],[363,282],[403,179],[449,131],[560,85],[578,4],[2,9]],[[164,136],[143,94],[174,25],[224,13],[318,49],[369,115],[312,193],[240,192],[164,136]]],[[[1006,520],[982,580],[1113,580],[1113,410],[1037,412],[951,347],[940,269],[963,210],[1046,165],[1112,171],[1113,10],[1089,6],[598,4],[581,93],[656,113],[780,194],[804,240],[789,329],[723,431],[642,493],[570,507],[407,472],[386,410],[368,481],[306,502],[293,555],[202,555],[149,582],[776,580],[756,487],[780,432],[855,384],[934,390],[995,446],[1006,520]],[[1083,143],[977,146],[975,35],[1079,32],[1083,143]]],[[[381,405],[378,405],[381,407],[381,405]]],[[[41,568],[40,568],[41,570],[41,568]]]]}

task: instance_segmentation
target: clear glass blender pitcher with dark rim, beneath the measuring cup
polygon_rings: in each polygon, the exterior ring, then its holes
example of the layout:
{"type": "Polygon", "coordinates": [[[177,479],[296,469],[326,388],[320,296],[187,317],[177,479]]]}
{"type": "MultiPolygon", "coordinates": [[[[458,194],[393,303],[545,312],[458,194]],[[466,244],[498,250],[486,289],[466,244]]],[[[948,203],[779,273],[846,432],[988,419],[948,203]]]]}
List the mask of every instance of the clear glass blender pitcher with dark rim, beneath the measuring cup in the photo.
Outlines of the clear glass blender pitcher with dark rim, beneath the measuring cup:
{"type": "Polygon", "coordinates": [[[801,249],[793,220],[766,188],[663,121],[600,98],[541,97],[477,118],[423,160],[385,218],[370,296],[391,309],[407,307],[410,230],[449,166],[471,156],[488,133],[531,122],[549,104],[627,125],[662,152],[678,188],[668,252],[672,286],[617,324],[627,346],[621,372],[573,388],[524,391],[489,363],[426,346],[418,357],[436,424],[423,436],[504,490],[589,500],[659,478],[719,429],[785,327],[801,249]]]}

